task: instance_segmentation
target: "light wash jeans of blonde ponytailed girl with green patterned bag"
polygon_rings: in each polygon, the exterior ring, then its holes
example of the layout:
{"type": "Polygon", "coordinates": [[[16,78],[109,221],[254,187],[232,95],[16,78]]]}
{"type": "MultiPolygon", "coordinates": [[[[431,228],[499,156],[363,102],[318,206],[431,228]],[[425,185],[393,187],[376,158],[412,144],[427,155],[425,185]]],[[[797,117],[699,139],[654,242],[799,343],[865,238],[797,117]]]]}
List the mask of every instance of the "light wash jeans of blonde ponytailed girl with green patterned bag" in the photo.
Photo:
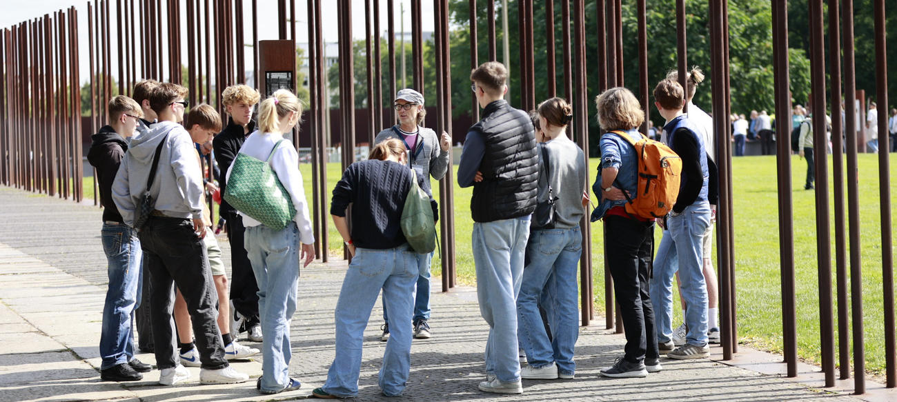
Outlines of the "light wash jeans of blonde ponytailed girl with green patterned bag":
{"type": "Polygon", "coordinates": [[[290,319],[299,292],[299,229],[292,222],[280,231],[265,225],[246,228],[243,244],[258,284],[262,334],[262,390],[290,383],[290,319]]]}

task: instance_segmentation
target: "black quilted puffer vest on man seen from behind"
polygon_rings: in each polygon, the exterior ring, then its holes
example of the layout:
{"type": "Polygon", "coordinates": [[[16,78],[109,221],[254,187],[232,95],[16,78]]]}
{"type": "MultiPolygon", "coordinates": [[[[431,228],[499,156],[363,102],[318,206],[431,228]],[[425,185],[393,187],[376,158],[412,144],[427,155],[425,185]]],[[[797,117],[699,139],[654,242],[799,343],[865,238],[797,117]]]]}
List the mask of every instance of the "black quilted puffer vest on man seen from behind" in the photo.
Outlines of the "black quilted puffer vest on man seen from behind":
{"type": "Polygon", "coordinates": [[[536,210],[539,179],[533,123],[523,110],[495,100],[483,109],[483,118],[470,127],[483,135],[485,153],[480,162],[483,181],[474,183],[470,210],[474,222],[493,222],[532,214],[536,210]]]}

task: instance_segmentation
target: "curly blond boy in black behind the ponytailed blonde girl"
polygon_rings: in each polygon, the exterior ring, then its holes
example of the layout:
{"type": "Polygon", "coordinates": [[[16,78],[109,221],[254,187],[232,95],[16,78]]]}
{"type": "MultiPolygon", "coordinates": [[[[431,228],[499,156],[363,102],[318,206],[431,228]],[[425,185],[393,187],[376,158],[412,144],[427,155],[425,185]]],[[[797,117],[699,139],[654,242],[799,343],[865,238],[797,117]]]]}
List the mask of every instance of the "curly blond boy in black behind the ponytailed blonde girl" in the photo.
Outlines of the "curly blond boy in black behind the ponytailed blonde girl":
{"type": "MultiPolygon", "coordinates": [[[[239,147],[246,138],[256,131],[256,122],[252,120],[261,95],[248,85],[231,85],[222,91],[222,104],[229,116],[227,126],[213,140],[215,162],[222,171],[231,169],[233,159],[237,157],[239,147]]],[[[219,180],[221,193],[227,188],[227,178],[219,180]]],[[[246,228],[243,218],[237,211],[222,199],[221,215],[227,225],[227,237],[231,243],[231,310],[234,311],[231,334],[234,339],[240,332],[247,332],[252,342],[262,342],[262,328],[258,319],[258,284],[256,275],[252,273],[252,265],[246,257],[243,234],[246,228]]]]}

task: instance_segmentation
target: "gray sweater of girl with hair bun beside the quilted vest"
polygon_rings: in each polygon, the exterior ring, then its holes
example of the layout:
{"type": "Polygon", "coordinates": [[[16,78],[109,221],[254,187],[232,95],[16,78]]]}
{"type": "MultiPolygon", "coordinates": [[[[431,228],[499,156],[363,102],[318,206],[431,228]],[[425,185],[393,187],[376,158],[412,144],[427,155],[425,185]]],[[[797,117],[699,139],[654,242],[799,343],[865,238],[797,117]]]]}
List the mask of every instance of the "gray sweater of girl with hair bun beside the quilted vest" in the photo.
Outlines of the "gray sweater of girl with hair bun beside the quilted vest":
{"type": "Polygon", "coordinates": [[[582,206],[582,192],[586,190],[587,172],[586,156],[579,145],[570,141],[566,135],[558,136],[544,144],[538,144],[539,164],[542,159],[542,148],[548,152],[549,178],[546,182],[539,178],[538,200],[548,198],[548,183],[551,183],[556,215],[555,229],[570,229],[579,225],[579,219],[585,214],[582,206]]]}

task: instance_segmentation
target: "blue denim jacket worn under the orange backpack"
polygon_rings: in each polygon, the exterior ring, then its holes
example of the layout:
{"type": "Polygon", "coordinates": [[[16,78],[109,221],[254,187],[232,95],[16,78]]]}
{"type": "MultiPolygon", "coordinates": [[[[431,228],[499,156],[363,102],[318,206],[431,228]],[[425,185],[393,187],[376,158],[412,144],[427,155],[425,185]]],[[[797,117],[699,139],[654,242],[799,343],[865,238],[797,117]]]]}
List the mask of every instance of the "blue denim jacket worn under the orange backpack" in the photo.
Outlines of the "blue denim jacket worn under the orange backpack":
{"type": "MultiPolygon", "coordinates": [[[[630,135],[632,139],[638,139],[641,134],[635,128],[626,130],[624,133],[630,135]]],[[[601,135],[601,164],[598,165],[598,177],[595,184],[592,185],[592,191],[597,197],[601,197],[603,191],[601,189],[601,170],[605,168],[616,168],[617,173],[614,187],[623,186],[623,191],[629,191],[631,197],[636,196],[636,186],[638,185],[639,160],[635,153],[635,147],[628,141],[614,133],[605,133],[601,135]]],[[[595,222],[605,216],[607,210],[617,205],[626,204],[626,200],[611,201],[601,198],[601,203],[592,211],[591,222],[595,222]]]]}

